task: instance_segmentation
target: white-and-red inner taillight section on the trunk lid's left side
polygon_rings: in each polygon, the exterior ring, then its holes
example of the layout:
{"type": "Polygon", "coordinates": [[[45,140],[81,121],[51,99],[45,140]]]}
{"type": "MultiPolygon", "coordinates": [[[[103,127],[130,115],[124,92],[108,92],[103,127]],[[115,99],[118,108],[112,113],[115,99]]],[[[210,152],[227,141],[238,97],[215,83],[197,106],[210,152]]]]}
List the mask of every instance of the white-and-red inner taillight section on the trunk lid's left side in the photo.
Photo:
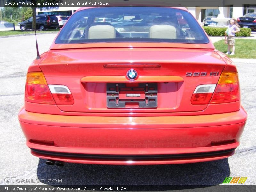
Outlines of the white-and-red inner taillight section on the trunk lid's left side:
{"type": "Polygon", "coordinates": [[[73,105],[74,99],[70,90],[64,85],[49,85],[53,99],[57,105],[73,105]]]}

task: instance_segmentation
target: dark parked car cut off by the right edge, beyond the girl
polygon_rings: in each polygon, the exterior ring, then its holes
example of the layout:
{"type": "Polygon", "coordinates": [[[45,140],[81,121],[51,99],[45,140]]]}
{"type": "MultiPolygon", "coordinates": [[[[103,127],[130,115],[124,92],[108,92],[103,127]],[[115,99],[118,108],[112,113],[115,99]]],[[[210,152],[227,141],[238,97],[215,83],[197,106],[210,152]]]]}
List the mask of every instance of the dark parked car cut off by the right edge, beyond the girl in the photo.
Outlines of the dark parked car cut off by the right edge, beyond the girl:
{"type": "Polygon", "coordinates": [[[256,31],[256,13],[248,13],[243,17],[238,17],[237,22],[242,28],[251,28],[252,31],[256,31]]]}

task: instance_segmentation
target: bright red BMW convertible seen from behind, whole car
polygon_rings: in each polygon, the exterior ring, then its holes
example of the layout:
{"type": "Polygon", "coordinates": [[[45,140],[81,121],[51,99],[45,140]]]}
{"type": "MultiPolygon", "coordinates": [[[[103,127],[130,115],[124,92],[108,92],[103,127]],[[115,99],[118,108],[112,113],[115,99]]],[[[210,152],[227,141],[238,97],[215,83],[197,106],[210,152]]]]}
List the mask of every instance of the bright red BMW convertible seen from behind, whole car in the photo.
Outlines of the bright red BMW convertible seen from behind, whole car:
{"type": "Polygon", "coordinates": [[[49,164],[227,158],[246,119],[232,61],[170,7],[77,10],[29,67],[19,112],[31,153],[49,164]]]}

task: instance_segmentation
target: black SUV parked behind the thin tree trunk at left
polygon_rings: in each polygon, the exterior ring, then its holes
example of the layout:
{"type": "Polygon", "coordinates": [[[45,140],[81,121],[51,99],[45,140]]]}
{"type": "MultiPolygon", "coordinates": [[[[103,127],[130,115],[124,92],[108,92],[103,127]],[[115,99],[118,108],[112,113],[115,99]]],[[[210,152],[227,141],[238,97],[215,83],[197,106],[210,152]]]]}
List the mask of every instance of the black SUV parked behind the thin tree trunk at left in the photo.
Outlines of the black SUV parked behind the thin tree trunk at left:
{"type": "MultiPolygon", "coordinates": [[[[25,31],[32,29],[33,18],[20,23],[20,29],[25,31]]],[[[36,29],[45,30],[59,27],[58,18],[55,15],[36,15],[36,29]]]]}

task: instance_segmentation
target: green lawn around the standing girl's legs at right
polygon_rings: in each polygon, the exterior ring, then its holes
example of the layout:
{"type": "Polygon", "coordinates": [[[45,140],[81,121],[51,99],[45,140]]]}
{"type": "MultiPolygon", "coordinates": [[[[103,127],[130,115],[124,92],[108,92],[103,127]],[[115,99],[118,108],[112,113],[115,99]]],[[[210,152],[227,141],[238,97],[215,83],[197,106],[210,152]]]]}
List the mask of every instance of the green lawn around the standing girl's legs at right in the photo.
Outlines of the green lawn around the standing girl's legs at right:
{"type": "MultiPolygon", "coordinates": [[[[256,59],[255,44],[256,44],[255,39],[236,39],[235,55],[228,55],[228,57],[242,58],[242,59],[256,59]]],[[[214,46],[217,50],[223,53],[226,53],[228,50],[228,45],[225,44],[224,40],[215,42],[214,46]]]]}

